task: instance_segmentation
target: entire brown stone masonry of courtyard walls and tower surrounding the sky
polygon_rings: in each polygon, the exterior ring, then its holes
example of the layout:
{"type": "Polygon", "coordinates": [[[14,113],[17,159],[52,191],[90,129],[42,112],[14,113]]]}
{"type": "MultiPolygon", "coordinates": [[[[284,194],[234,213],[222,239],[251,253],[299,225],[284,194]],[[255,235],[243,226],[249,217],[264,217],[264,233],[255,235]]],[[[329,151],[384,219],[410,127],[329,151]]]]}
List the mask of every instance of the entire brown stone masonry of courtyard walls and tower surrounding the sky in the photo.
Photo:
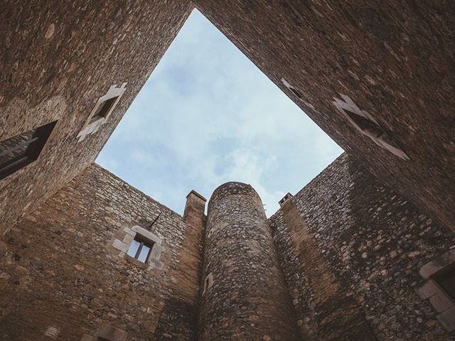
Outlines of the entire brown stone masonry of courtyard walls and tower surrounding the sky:
{"type": "Polygon", "coordinates": [[[56,121],[0,180],[0,340],[454,340],[454,36],[442,0],[0,1],[0,171],[56,121]],[[195,6],[348,153],[269,220],[93,163],[195,6]]]}

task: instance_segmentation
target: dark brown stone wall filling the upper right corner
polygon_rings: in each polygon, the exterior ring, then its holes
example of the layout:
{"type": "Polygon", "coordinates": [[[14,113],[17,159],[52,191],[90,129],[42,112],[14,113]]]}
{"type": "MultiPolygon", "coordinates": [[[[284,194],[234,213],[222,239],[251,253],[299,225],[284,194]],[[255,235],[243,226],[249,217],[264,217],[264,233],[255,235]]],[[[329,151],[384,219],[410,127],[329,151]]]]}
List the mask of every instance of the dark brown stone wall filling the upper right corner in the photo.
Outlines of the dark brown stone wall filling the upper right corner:
{"type": "Polygon", "coordinates": [[[454,1],[194,2],[346,152],[455,228],[454,1]],[[410,160],[355,129],[342,94],[410,160]]]}

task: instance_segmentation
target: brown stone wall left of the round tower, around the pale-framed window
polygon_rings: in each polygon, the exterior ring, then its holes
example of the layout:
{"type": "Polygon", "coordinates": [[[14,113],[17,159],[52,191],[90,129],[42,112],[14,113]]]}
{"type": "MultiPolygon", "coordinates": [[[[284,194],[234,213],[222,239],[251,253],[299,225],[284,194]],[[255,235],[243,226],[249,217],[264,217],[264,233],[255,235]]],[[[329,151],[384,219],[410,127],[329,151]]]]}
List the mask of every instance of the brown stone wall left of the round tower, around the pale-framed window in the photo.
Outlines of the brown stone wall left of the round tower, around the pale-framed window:
{"type": "Polygon", "coordinates": [[[195,229],[93,164],[2,237],[0,340],[51,340],[48,330],[58,332],[55,340],[79,341],[103,323],[129,341],[195,340],[193,264],[201,261],[198,248],[188,250],[200,244],[195,229]],[[134,225],[162,240],[161,270],[113,247],[134,225]]]}

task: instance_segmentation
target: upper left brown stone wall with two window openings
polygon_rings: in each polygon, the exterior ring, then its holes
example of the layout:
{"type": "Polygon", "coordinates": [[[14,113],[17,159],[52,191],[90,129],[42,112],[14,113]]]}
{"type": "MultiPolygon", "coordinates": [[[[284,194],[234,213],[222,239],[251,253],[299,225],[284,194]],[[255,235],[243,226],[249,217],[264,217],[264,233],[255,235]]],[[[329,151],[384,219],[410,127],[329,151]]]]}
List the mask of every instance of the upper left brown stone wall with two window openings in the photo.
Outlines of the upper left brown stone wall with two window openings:
{"type": "Polygon", "coordinates": [[[0,141],[58,120],[40,158],[0,180],[0,234],[100,152],[186,20],[186,0],[1,1],[0,141]],[[126,83],[98,131],[77,134],[126,83]]]}

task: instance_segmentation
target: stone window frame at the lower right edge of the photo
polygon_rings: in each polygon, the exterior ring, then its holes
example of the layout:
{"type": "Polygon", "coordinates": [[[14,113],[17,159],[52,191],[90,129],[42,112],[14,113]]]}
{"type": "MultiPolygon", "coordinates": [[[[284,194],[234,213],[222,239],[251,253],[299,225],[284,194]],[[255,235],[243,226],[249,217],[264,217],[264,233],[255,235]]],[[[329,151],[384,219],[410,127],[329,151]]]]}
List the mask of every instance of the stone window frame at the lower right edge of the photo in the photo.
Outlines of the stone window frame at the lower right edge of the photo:
{"type": "Polygon", "coordinates": [[[455,335],[455,302],[434,279],[435,275],[451,266],[455,266],[455,249],[444,252],[419,269],[424,281],[414,291],[439,313],[436,317],[449,335],[455,335]]]}

